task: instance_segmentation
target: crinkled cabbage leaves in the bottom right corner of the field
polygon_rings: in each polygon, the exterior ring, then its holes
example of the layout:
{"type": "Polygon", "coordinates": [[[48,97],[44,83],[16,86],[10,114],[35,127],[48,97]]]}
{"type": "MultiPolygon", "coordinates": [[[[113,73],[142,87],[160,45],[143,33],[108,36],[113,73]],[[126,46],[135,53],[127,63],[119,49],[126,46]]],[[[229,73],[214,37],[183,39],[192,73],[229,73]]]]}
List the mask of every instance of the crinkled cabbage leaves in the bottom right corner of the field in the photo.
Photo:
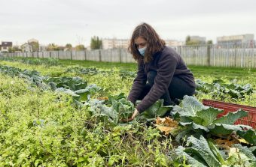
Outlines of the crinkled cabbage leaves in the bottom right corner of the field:
{"type": "Polygon", "coordinates": [[[221,151],[207,142],[203,136],[200,139],[190,136],[187,139],[187,147],[178,146],[175,153],[186,158],[187,162],[192,166],[255,166],[256,158],[252,152],[241,145],[233,145],[230,148],[230,154],[226,158],[221,151]]]}

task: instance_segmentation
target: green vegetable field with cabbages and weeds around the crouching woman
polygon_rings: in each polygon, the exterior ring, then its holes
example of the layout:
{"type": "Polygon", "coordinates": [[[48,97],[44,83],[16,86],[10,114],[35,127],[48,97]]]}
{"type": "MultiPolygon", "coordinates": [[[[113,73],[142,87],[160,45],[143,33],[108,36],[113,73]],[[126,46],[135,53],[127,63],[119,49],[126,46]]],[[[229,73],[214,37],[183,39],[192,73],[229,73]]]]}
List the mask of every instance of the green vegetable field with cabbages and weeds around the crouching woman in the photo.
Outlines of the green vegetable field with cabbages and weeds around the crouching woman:
{"type": "Polygon", "coordinates": [[[248,112],[202,103],[256,106],[256,70],[190,70],[194,97],[128,122],[136,64],[1,58],[0,166],[256,166],[255,130],[234,124],[248,112]]]}

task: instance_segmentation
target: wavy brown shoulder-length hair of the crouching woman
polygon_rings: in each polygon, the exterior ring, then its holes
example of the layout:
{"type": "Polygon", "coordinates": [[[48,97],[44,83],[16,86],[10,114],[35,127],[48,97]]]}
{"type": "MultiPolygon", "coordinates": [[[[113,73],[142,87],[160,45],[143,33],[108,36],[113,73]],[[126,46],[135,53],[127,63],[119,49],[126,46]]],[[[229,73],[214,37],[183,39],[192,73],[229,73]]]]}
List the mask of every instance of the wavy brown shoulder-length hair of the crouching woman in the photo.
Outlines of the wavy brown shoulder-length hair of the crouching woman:
{"type": "Polygon", "coordinates": [[[147,49],[144,56],[145,63],[151,61],[154,53],[160,52],[166,45],[164,40],[159,37],[154,28],[152,28],[151,25],[143,22],[134,29],[132,38],[130,39],[130,45],[128,47],[128,52],[133,55],[133,58],[136,61],[139,61],[139,59],[142,58],[142,55],[139,54],[139,50],[135,43],[137,37],[142,37],[147,41],[147,49]]]}

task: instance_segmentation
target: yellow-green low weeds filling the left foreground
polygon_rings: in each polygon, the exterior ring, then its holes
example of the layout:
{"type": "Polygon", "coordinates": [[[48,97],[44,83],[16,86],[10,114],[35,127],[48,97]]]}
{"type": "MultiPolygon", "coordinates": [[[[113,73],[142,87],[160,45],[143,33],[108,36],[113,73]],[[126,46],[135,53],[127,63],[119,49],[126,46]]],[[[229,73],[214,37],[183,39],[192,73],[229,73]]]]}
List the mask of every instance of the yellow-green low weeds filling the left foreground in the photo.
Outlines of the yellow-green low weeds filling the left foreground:
{"type": "Polygon", "coordinates": [[[0,166],[171,165],[172,146],[159,141],[158,130],[136,122],[110,127],[94,121],[90,106],[74,108],[66,94],[0,78],[0,166]]]}

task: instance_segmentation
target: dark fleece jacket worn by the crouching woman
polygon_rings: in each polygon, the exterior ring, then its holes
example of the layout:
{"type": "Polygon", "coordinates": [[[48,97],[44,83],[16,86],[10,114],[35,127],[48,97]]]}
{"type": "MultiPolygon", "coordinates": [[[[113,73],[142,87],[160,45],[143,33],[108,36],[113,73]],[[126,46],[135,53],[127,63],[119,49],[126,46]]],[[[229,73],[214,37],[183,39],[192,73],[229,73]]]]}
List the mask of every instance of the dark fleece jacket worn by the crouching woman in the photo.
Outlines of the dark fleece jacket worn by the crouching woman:
{"type": "Polygon", "coordinates": [[[156,52],[153,55],[153,60],[149,63],[145,64],[143,58],[139,59],[137,76],[136,79],[134,79],[133,87],[128,96],[128,100],[131,102],[135,103],[136,100],[138,100],[139,95],[145,87],[147,73],[150,70],[157,71],[157,76],[151,91],[149,91],[138,106],[136,106],[139,112],[144,112],[168,91],[173,76],[178,76],[193,88],[196,87],[194,76],[190,70],[187,69],[181,56],[178,55],[174,49],[165,46],[161,52],[156,52]]]}

